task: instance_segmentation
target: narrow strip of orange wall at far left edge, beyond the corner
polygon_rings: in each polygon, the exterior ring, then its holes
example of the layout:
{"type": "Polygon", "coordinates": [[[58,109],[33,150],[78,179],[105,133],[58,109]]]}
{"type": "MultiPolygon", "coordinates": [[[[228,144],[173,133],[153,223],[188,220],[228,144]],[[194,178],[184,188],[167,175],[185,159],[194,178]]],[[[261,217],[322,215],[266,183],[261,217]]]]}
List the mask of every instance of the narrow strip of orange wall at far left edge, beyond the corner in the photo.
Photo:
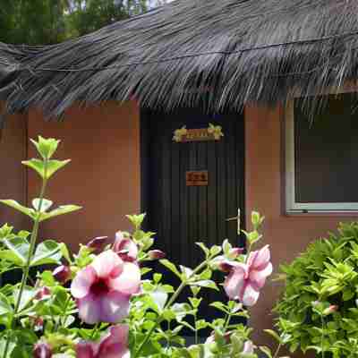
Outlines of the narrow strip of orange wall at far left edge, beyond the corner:
{"type": "MultiPolygon", "coordinates": [[[[1,104],[0,104],[1,108],[1,104]]],[[[26,202],[26,115],[8,115],[0,131],[0,198],[26,202]]],[[[27,220],[13,209],[0,206],[0,226],[9,223],[16,230],[24,229],[27,220]]]]}

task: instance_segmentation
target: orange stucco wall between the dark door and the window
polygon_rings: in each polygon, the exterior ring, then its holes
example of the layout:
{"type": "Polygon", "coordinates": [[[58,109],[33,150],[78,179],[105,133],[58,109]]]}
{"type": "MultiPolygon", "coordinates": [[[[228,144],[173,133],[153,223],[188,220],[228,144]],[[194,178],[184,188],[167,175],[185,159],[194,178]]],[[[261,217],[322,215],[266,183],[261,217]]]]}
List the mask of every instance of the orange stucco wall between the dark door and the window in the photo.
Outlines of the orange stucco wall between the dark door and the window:
{"type": "MultiPolygon", "coordinates": [[[[307,244],[315,238],[325,236],[335,230],[340,221],[356,220],[358,217],[326,216],[286,216],[281,208],[281,153],[280,135],[283,108],[264,107],[245,108],[246,135],[246,212],[250,220],[252,209],[265,215],[263,226],[265,243],[271,245],[275,274],[280,263],[289,262],[304,251],[307,244]]],[[[262,290],[259,303],[251,310],[251,325],[264,329],[272,327],[270,313],[280,286],[270,283],[262,290]]],[[[265,342],[266,335],[256,333],[257,339],[265,342]]],[[[298,355],[299,356],[299,355],[298,355]]]]}

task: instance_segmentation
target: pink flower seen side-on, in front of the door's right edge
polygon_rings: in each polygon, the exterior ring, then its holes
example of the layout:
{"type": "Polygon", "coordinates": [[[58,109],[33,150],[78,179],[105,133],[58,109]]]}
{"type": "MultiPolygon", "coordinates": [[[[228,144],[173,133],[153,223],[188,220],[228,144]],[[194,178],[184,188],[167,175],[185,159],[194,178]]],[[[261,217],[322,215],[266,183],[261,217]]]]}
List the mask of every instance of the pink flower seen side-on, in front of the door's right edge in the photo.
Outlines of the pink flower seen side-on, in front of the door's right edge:
{"type": "Polygon", "coordinates": [[[266,278],[272,273],[272,264],[268,245],[260,251],[252,251],[246,263],[235,263],[224,288],[232,300],[240,300],[245,306],[257,303],[260,288],[265,285],[266,278]]]}

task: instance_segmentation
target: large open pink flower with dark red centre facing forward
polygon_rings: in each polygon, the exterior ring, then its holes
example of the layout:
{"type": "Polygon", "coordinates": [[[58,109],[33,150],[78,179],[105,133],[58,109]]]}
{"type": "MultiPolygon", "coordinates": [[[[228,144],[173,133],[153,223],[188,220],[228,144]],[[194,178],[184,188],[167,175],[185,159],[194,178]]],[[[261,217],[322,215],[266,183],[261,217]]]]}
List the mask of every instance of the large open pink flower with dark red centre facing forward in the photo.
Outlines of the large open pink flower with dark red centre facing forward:
{"type": "Polygon", "coordinates": [[[74,277],[71,293],[79,315],[86,323],[117,323],[128,316],[132,294],[141,288],[141,270],[124,262],[112,251],[104,251],[74,277]]]}

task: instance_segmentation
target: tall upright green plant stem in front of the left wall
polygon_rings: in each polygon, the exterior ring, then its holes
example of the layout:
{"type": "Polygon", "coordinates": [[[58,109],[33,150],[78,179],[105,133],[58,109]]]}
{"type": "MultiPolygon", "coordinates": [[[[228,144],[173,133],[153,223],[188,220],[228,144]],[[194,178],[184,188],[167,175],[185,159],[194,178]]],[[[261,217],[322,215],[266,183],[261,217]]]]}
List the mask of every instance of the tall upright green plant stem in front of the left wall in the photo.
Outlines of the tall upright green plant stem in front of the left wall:
{"type": "MultiPolygon", "coordinates": [[[[44,174],[45,174],[44,176],[46,178],[46,176],[47,176],[47,159],[44,160],[44,174]]],[[[28,277],[29,277],[30,264],[31,264],[32,256],[35,251],[36,241],[38,239],[38,226],[39,226],[39,222],[40,222],[40,218],[41,218],[41,208],[42,208],[42,203],[44,201],[46,185],[47,185],[47,179],[43,179],[41,191],[40,191],[39,198],[38,198],[39,199],[38,209],[37,209],[38,215],[35,218],[34,225],[32,227],[32,233],[31,233],[31,237],[30,237],[30,249],[29,249],[27,260],[26,260],[26,265],[24,268],[22,268],[21,286],[20,286],[19,294],[17,296],[17,301],[15,303],[15,309],[13,311],[13,318],[16,318],[17,314],[19,313],[22,294],[23,294],[23,291],[25,289],[25,286],[26,286],[26,283],[27,283],[28,277]]],[[[14,320],[12,320],[12,328],[13,328],[13,325],[14,325],[14,320]]],[[[7,357],[7,354],[9,351],[9,346],[10,346],[10,336],[7,336],[6,337],[6,345],[4,347],[3,358],[7,357]]]]}

